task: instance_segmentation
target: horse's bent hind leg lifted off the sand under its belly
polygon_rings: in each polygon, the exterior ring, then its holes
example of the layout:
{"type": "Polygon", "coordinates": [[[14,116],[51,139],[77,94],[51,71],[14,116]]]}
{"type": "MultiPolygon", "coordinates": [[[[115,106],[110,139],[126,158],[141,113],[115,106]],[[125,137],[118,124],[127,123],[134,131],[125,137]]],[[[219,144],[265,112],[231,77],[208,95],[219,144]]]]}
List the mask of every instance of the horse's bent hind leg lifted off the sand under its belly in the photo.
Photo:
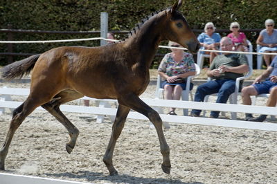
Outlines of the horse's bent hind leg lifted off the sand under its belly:
{"type": "Polygon", "coordinates": [[[83,95],[72,90],[62,91],[55,95],[51,102],[43,104],[42,107],[51,113],[55,118],[66,127],[69,131],[70,140],[66,143],[66,151],[71,154],[75,143],[77,141],[79,130],[69,121],[69,119],[64,116],[62,111],[60,111],[60,104],[64,104],[71,100],[81,98],[83,95]]]}

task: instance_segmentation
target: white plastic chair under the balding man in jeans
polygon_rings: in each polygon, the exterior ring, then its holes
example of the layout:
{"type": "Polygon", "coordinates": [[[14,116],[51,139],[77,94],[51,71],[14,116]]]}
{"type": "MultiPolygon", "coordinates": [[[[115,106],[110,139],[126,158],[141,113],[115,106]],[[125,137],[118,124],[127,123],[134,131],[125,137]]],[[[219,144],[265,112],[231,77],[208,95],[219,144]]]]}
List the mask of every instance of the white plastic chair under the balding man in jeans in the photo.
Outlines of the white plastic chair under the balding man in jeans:
{"type": "MultiPolygon", "coordinates": [[[[253,69],[251,66],[249,66],[249,71],[243,76],[243,77],[238,77],[236,80],[235,80],[235,92],[232,93],[230,96],[229,96],[229,102],[230,104],[238,104],[238,95],[240,95],[240,81],[241,80],[245,80],[247,79],[248,77],[250,77],[252,75],[252,72],[253,72],[253,69]]],[[[211,77],[208,77],[208,81],[211,80],[211,77]]],[[[218,93],[213,93],[211,95],[214,95],[214,96],[217,96],[218,93]]],[[[208,102],[208,98],[211,96],[211,95],[206,95],[205,98],[204,98],[204,102],[208,102]]],[[[224,114],[224,112],[222,112],[224,114]]],[[[203,116],[205,116],[206,114],[206,111],[204,110],[203,111],[203,116]]],[[[224,115],[225,116],[225,115],[224,115]]],[[[231,117],[233,120],[236,120],[237,119],[237,113],[235,112],[231,112],[231,117]]]]}

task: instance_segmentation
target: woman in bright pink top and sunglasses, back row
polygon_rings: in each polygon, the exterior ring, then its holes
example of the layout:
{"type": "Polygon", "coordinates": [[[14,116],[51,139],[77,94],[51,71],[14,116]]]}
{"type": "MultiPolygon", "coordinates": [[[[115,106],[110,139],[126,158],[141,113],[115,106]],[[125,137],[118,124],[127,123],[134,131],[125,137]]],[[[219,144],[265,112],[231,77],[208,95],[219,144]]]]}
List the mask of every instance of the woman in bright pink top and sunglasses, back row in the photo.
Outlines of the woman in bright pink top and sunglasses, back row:
{"type": "Polygon", "coordinates": [[[236,51],[242,51],[242,52],[248,52],[248,44],[247,44],[247,37],[244,35],[244,33],[239,32],[240,30],[240,24],[238,22],[232,22],[230,25],[230,30],[232,33],[230,33],[227,37],[231,38],[233,41],[233,44],[235,45],[236,51]]]}

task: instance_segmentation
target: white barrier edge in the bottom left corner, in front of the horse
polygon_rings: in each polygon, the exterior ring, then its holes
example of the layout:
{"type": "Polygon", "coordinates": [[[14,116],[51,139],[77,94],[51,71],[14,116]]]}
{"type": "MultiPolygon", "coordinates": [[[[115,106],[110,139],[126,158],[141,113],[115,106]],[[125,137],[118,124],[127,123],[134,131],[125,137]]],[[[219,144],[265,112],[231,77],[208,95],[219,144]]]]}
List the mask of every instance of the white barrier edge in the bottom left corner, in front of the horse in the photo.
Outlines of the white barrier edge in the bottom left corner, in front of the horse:
{"type": "Polygon", "coordinates": [[[19,174],[0,173],[1,184],[88,184],[77,181],[58,180],[53,178],[41,178],[19,174]]]}

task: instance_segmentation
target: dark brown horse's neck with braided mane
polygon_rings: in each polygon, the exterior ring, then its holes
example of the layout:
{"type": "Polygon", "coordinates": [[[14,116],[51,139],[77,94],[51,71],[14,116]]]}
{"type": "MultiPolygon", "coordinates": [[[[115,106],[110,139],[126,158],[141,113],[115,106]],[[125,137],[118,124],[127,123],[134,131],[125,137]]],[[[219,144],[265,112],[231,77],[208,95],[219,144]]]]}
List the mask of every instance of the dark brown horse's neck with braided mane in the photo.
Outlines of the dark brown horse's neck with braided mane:
{"type": "MultiPolygon", "coordinates": [[[[138,66],[150,67],[152,59],[159,47],[159,43],[163,39],[161,37],[162,27],[157,24],[159,17],[152,17],[148,22],[143,24],[139,31],[129,37],[127,44],[132,53],[136,53],[134,57],[138,59],[138,66]],[[155,25],[157,24],[157,25],[155,25]],[[134,51],[136,50],[136,51],[134,51]]],[[[159,21],[161,22],[161,21],[159,21]]]]}

